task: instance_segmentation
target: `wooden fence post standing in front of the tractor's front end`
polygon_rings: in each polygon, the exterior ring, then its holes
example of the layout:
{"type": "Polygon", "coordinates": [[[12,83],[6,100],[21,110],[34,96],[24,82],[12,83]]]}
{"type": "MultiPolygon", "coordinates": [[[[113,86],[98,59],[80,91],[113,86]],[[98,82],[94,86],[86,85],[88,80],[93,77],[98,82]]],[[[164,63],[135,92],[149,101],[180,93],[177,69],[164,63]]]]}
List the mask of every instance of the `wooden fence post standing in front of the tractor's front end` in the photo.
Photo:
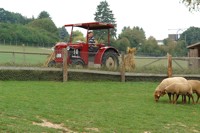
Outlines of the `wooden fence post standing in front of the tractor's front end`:
{"type": "Polygon", "coordinates": [[[63,82],[68,81],[67,56],[68,56],[68,51],[66,48],[64,48],[63,49],[63,82]]]}

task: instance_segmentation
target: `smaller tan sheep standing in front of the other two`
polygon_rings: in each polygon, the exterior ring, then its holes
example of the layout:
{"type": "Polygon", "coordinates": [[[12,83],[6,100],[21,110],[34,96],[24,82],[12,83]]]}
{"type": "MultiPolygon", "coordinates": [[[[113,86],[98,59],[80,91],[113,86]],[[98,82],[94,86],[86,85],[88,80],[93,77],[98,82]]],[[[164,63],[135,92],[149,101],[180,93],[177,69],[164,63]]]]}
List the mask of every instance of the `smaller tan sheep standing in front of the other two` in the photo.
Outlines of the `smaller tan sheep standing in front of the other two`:
{"type": "Polygon", "coordinates": [[[193,104],[194,104],[194,98],[192,96],[192,86],[186,82],[186,83],[181,83],[181,82],[174,82],[172,84],[170,84],[169,86],[167,86],[164,89],[165,93],[170,93],[170,94],[176,94],[176,99],[174,99],[173,96],[173,103],[176,104],[179,95],[187,95],[189,98],[192,98],[193,104]]]}

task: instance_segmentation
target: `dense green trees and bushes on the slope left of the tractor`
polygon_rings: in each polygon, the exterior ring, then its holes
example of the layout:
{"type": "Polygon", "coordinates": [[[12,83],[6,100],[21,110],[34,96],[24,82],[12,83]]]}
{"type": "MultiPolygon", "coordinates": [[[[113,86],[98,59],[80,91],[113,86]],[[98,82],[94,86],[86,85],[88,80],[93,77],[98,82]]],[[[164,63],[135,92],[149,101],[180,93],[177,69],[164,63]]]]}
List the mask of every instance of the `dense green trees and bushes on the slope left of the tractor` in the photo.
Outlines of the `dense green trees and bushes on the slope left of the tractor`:
{"type": "Polygon", "coordinates": [[[0,41],[54,45],[59,40],[57,27],[47,12],[43,11],[39,16],[40,19],[28,19],[0,8],[0,41]]]}

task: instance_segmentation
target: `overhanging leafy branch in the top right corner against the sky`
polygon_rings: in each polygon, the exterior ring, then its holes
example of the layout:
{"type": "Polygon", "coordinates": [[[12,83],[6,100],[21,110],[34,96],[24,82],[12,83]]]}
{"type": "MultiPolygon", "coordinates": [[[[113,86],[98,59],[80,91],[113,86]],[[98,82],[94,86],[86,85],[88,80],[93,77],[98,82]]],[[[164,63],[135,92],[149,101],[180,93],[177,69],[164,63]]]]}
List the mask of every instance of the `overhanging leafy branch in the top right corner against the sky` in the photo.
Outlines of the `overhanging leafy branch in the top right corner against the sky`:
{"type": "Polygon", "coordinates": [[[200,0],[181,0],[183,4],[185,4],[190,11],[199,10],[200,0]]]}

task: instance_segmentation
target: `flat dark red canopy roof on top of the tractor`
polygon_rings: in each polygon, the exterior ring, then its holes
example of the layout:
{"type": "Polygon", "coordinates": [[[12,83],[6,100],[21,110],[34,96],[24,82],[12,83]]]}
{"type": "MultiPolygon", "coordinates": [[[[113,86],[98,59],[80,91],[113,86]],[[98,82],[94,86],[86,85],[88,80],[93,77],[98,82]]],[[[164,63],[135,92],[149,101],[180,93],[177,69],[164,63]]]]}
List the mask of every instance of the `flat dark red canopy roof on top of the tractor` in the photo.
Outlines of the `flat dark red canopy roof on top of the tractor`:
{"type": "Polygon", "coordinates": [[[89,23],[79,23],[79,24],[66,24],[65,27],[81,27],[88,30],[98,30],[98,29],[110,29],[114,28],[114,25],[102,22],[89,22],[89,23]]]}

